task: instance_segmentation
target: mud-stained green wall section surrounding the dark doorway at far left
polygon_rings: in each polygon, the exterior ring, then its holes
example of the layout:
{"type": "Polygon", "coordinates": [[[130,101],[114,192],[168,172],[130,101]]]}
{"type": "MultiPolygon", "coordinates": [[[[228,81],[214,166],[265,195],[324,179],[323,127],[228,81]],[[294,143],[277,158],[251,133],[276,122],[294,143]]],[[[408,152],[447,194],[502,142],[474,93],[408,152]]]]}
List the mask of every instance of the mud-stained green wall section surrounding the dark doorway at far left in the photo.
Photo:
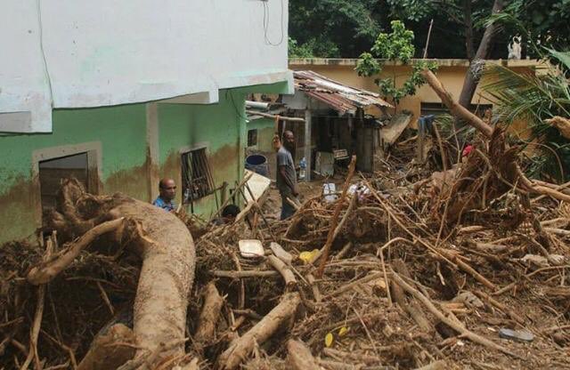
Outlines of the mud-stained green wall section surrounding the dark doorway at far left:
{"type": "Polygon", "coordinates": [[[37,179],[32,179],[34,150],[100,142],[102,192],[120,190],[145,199],[145,125],[143,104],[58,109],[53,111],[53,133],[0,136],[0,243],[28,237],[40,226],[37,179]]]}

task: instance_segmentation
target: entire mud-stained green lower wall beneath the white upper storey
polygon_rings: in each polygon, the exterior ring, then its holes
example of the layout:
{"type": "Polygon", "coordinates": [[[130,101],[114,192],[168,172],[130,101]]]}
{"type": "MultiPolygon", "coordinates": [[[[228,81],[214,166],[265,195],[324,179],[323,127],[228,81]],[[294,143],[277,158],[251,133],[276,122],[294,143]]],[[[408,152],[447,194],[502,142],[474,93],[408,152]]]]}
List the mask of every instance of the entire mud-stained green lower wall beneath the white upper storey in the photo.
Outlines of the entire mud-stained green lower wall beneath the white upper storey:
{"type": "MultiPolygon", "coordinates": [[[[246,96],[287,91],[287,83],[262,84],[222,90],[216,104],[159,103],[159,177],[172,177],[180,185],[180,150],[205,143],[216,185],[226,181],[229,189],[234,188],[243,176],[245,161],[246,96]]],[[[31,236],[40,226],[37,179],[32,179],[32,153],[37,149],[98,141],[102,192],[121,191],[150,200],[146,119],[145,104],[56,109],[53,133],[0,136],[0,243],[31,236]]],[[[207,197],[195,212],[208,216],[214,209],[215,198],[207,197]]]]}

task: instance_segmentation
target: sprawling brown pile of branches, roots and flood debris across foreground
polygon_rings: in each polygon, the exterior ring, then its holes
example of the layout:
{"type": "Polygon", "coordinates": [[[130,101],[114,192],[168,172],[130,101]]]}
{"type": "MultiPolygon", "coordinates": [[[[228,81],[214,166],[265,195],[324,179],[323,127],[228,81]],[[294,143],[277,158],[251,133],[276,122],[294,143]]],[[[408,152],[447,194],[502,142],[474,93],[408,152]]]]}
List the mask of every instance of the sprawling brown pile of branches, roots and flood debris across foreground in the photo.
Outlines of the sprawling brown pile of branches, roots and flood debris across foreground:
{"type": "Polygon", "coordinates": [[[97,348],[121,348],[109,357],[123,370],[568,368],[570,203],[477,125],[463,162],[428,176],[397,158],[368,178],[349,167],[336,199],[309,197],[287,221],[183,216],[196,249],[183,351],[132,337],[144,255],[128,242],[152,242],[140,223],[39,286],[30,271],[56,238],[4,245],[0,368],[99,368],[85,363],[97,348]]]}

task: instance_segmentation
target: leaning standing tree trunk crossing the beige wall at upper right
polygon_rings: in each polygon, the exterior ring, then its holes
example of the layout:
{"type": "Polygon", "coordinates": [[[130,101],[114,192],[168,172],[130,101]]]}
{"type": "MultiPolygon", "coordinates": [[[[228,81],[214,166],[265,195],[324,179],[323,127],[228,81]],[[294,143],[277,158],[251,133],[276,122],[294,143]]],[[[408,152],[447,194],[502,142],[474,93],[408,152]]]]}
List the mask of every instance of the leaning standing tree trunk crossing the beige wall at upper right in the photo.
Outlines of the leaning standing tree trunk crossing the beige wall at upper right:
{"type": "MultiPolygon", "coordinates": [[[[493,14],[501,12],[502,8],[503,8],[502,0],[495,0],[493,4],[493,14]]],[[[471,63],[469,64],[469,69],[465,76],[465,82],[463,83],[463,88],[461,89],[460,99],[459,99],[460,105],[465,107],[466,109],[469,108],[471,100],[473,99],[473,95],[475,94],[477,84],[479,84],[479,79],[481,78],[481,71],[485,66],[485,59],[489,58],[489,54],[491,52],[491,49],[493,48],[496,32],[497,32],[497,26],[494,23],[485,28],[485,33],[483,34],[481,43],[477,48],[475,58],[471,60],[471,63]]],[[[458,130],[465,125],[466,125],[465,123],[461,122],[456,118],[455,126],[458,130]]]]}

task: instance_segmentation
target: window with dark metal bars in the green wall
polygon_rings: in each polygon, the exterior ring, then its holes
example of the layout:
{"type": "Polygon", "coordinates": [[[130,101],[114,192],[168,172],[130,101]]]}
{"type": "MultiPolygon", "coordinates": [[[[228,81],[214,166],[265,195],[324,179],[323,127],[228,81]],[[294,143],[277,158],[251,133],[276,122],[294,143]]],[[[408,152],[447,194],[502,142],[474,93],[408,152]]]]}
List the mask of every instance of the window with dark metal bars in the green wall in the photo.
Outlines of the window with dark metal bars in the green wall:
{"type": "Polygon", "coordinates": [[[195,149],[182,155],[183,203],[206,197],[215,189],[206,148],[195,149]]]}

